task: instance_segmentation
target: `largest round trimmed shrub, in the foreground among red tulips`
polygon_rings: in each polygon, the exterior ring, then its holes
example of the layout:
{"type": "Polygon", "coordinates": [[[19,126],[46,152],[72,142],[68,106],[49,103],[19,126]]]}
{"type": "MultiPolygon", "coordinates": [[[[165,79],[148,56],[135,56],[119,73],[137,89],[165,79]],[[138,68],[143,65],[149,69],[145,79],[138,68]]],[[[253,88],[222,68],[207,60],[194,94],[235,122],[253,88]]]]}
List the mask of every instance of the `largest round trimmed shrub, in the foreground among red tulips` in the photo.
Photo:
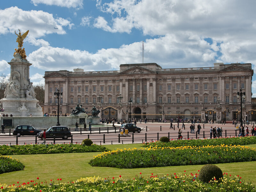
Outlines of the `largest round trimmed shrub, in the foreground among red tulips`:
{"type": "Polygon", "coordinates": [[[206,164],[204,165],[199,173],[199,180],[208,183],[210,180],[213,180],[212,178],[216,178],[216,180],[219,180],[223,177],[221,169],[213,164],[206,164]]]}

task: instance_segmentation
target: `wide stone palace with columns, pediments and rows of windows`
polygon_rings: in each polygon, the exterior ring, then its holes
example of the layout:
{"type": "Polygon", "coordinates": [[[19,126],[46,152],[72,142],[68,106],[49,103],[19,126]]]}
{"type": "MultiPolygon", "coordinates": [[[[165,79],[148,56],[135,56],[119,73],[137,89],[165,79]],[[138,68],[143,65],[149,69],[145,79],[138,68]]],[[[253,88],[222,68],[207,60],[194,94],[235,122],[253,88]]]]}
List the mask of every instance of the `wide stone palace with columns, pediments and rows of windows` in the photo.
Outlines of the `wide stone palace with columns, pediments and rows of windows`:
{"type": "Polygon", "coordinates": [[[95,105],[102,118],[232,120],[240,119],[237,92],[242,89],[243,118],[252,121],[256,116],[252,75],[251,63],[164,69],[156,63],[139,63],[121,64],[116,71],[46,71],[44,113],[57,113],[54,92],[59,89],[63,92],[59,100],[62,116],[79,104],[88,115],[95,105]]]}

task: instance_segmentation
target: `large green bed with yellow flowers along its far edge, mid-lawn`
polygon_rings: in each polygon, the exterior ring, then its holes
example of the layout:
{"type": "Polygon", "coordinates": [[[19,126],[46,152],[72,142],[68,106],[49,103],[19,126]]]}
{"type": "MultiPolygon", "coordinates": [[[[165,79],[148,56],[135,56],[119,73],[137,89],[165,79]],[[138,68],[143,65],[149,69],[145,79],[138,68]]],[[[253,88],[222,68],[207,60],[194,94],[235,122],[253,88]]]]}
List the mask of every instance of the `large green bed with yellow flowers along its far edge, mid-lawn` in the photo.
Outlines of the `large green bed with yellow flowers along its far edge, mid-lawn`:
{"type": "Polygon", "coordinates": [[[141,168],[178,165],[217,164],[255,161],[256,150],[246,146],[163,147],[117,149],[102,152],[92,166],[141,168]]]}

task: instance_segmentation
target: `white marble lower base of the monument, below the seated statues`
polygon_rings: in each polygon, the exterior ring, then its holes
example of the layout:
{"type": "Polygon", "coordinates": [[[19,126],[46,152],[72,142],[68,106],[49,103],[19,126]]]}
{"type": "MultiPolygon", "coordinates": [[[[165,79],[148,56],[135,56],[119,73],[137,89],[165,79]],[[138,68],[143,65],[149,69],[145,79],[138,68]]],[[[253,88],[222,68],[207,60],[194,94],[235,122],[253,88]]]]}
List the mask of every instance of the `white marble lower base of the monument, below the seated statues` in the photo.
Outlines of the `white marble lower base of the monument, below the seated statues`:
{"type": "Polygon", "coordinates": [[[5,115],[10,116],[43,116],[42,108],[37,106],[38,100],[35,98],[3,98],[0,100],[5,115]]]}

